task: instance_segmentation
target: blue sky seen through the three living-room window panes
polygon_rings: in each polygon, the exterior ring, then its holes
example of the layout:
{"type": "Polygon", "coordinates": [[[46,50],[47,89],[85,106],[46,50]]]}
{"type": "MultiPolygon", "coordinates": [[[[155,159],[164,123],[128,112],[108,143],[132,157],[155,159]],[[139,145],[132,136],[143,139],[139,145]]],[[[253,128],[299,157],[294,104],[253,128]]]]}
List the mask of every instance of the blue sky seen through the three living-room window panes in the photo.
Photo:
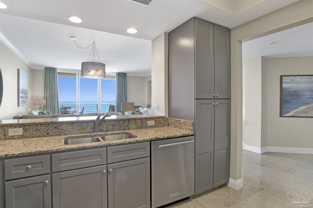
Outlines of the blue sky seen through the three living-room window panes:
{"type": "MultiPolygon", "coordinates": [[[[75,77],[58,77],[59,81],[59,99],[62,101],[76,102],[76,78],[75,77]]],[[[80,79],[80,101],[97,100],[97,79],[81,78],[80,79]]],[[[101,102],[115,101],[116,80],[101,79],[101,102]]]]}

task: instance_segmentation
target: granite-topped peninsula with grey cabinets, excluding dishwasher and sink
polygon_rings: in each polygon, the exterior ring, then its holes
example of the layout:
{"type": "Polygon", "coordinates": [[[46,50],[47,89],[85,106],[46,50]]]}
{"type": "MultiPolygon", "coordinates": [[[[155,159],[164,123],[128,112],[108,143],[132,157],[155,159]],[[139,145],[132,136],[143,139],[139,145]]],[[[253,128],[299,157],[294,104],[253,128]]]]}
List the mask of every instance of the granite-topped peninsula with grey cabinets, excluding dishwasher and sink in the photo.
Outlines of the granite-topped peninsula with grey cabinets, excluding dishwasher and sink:
{"type": "Polygon", "coordinates": [[[19,203],[23,208],[151,207],[150,141],[193,137],[193,122],[118,115],[106,118],[94,133],[94,119],[2,120],[0,208],[20,208],[19,203]],[[9,135],[15,128],[23,135],[9,135]],[[121,133],[134,138],[65,144],[68,138],[121,133]]]}

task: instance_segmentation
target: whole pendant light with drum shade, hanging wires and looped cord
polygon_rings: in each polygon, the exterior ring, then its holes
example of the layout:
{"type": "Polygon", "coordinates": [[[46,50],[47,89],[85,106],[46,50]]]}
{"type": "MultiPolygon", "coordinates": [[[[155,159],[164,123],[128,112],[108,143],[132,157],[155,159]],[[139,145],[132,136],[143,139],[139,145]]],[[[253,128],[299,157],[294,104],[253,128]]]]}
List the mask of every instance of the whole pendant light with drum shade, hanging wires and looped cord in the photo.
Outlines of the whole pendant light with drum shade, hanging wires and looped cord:
{"type": "Polygon", "coordinates": [[[96,43],[93,40],[93,43],[91,43],[88,47],[83,48],[80,45],[78,45],[75,41],[75,37],[70,37],[74,43],[77,45],[77,47],[82,49],[88,49],[91,47],[91,51],[88,57],[88,60],[85,62],[82,62],[82,71],[81,76],[86,78],[105,78],[106,77],[106,65],[104,63],[100,62],[100,58],[98,55],[98,51],[96,48],[96,43]],[[95,58],[98,58],[98,62],[95,61],[95,58]],[[91,56],[91,61],[89,61],[91,56]]]}

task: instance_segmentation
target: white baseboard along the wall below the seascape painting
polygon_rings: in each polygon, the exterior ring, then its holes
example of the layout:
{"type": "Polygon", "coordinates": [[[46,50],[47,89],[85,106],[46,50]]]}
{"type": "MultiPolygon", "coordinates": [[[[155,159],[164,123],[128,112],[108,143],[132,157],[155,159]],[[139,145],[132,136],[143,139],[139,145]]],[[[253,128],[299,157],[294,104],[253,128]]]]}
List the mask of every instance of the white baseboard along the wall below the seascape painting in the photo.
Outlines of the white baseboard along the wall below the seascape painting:
{"type": "Polygon", "coordinates": [[[313,154],[313,148],[300,148],[300,147],[274,147],[267,146],[263,148],[254,147],[251,145],[246,145],[243,142],[243,149],[247,151],[253,151],[259,154],[265,153],[267,151],[271,152],[284,152],[284,153],[300,153],[300,154],[313,154]]]}

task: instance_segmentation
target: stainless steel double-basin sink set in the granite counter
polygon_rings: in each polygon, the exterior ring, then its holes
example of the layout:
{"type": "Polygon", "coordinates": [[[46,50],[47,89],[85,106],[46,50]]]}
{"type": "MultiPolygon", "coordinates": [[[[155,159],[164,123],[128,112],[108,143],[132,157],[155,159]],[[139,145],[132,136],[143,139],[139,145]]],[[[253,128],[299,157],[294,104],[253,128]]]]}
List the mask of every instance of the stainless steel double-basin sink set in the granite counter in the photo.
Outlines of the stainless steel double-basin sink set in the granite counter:
{"type": "Polygon", "coordinates": [[[86,137],[67,137],[64,140],[64,144],[66,145],[74,145],[74,144],[84,144],[91,142],[103,142],[103,141],[112,141],[112,140],[120,140],[120,139],[130,139],[135,138],[134,134],[123,132],[119,134],[109,134],[102,136],[86,136],[86,137]]]}

